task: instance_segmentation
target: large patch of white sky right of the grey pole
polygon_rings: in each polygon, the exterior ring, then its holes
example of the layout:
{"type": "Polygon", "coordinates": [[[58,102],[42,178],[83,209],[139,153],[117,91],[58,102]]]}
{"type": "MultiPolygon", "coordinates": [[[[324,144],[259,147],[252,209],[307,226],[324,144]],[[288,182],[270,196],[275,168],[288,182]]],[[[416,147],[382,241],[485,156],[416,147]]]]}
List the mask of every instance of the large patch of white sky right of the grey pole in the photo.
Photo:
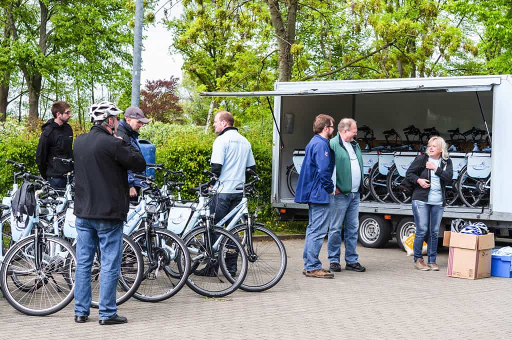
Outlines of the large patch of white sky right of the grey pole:
{"type": "MultiPolygon", "coordinates": [[[[158,10],[168,0],[159,0],[155,7],[158,10]]],[[[176,3],[176,0],[173,0],[176,3]]],[[[168,8],[169,5],[166,7],[168,8]]],[[[183,12],[181,3],[174,5],[168,13],[176,17],[183,12]]],[[[170,54],[169,47],[173,43],[172,33],[161,23],[163,9],[156,14],[155,24],[144,29],[142,50],[142,71],[140,73],[141,86],[144,87],[146,80],[169,79],[170,76],[181,78],[181,67],[183,58],[179,54],[170,54]]]]}

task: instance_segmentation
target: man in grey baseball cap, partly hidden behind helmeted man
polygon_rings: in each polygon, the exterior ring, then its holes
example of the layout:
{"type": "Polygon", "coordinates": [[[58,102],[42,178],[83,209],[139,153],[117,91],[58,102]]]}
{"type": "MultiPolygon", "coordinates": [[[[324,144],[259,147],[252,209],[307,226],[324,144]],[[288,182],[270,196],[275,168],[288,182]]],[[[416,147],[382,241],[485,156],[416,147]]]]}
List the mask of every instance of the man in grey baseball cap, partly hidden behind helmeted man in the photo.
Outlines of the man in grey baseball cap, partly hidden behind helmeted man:
{"type": "MultiPolygon", "coordinates": [[[[142,125],[149,123],[150,121],[151,120],[146,118],[141,109],[138,107],[129,107],[124,111],[124,118],[117,126],[116,135],[121,137],[126,143],[129,143],[137,150],[141,151],[138,142],[139,130],[142,125]]],[[[128,171],[128,184],[130,185],[131,201],[137,201],[140,194],[140,188],[145,186],[142,184],[140,179],[133,176],[134,174],[145,176],[144,173],[133,173],[132,171],[128,171]]]]}

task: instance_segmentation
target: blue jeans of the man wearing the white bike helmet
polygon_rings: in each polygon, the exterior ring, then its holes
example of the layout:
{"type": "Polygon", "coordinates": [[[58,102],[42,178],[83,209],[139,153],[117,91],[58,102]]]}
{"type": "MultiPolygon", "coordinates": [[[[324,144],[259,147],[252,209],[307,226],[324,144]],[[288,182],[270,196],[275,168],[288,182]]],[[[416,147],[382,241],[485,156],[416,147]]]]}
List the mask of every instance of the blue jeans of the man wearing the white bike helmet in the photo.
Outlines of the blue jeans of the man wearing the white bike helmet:
{"type": "Polygon", "coordinates": [[[118,220],[76,218],[75,315],[89,316],[91,268],[98,249],[101,254],[99,318],[117,313],[116,288],[121,273],[123,223],[118,220]]]}

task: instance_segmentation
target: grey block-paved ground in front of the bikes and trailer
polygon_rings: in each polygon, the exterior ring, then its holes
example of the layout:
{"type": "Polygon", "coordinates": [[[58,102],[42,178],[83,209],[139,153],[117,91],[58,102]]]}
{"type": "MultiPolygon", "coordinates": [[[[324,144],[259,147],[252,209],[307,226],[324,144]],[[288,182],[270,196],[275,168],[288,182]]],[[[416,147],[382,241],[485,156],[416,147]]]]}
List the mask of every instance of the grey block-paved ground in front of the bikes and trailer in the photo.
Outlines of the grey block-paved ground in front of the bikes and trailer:
{"type": "MultiPolygon", "coordinates": [[[[359,247],[367,272],[343,270],[332,280],[306,278],[302,240],[285,241],[288,270],[263,293],[237,291],[206,299],[186,286],[157,304],[131,300],[120,307],[126,325],[75,324],[72,306],[47,317],[17,313],[0,298],[0,340],[56,339],[505,339],[512,333],[512,279],[476,281],[441,270],[413,269],[390,244],[359,247]]],[[[342,249],[343,253],[343,249],[342,249]]],[[[327,263],[326,246],[322,261],[327,263]]]]}

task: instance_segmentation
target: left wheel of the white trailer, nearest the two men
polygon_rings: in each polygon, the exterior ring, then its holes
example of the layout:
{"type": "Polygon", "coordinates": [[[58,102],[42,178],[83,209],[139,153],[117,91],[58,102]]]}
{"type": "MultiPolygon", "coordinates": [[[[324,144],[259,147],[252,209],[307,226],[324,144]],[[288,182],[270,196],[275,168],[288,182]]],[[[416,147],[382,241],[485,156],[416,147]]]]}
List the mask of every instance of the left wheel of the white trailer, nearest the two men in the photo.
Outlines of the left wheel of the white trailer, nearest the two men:
{"type": "Polygon", "coordinates": [[[391,225],[378,215],[362,215],[359,217],[359,243],[367,248],[385,246],[391,236],[391,225]]]}

